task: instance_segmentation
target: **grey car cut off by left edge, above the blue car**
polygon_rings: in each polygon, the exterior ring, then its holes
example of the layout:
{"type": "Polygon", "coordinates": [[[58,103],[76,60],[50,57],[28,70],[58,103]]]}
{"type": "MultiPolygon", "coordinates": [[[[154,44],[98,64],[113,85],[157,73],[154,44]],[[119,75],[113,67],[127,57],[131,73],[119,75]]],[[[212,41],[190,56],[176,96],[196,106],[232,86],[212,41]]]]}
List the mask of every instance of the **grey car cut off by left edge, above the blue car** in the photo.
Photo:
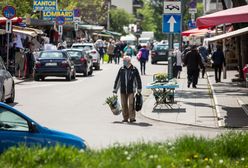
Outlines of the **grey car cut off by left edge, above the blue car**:
{"type": "Polygon", "coordinates": [[[15,82],[6,69],[2,57],[0,57],[0,101],[7,103],[15,101],[15,82]]]}

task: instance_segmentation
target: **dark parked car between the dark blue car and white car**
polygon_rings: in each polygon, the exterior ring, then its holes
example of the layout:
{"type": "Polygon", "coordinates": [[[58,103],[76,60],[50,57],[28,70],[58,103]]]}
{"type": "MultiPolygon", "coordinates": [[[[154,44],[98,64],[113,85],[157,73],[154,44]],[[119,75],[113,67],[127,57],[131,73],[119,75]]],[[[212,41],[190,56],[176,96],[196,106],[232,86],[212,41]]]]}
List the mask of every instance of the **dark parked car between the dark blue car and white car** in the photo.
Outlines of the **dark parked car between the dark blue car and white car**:
{"type": "Polygon", "coordinates": [[[70,55],[76,69],[76,73],[83,73],[84,76],[92,75],[92,56],[80,49],[65,49],[64,51],[70,55]]]}

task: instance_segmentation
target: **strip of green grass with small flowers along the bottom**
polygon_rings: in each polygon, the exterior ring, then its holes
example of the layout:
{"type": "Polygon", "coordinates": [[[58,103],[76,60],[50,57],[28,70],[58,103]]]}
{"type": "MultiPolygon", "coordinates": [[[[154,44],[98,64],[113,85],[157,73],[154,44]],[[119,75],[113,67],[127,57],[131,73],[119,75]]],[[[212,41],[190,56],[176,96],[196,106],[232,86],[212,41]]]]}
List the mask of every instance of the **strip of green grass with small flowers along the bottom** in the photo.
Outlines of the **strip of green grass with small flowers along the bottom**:
{"type": "Polygon", "coordinates": [[[174,142],[114,144],[102,150],[12,148],[0,155],[1,168],[15,167],[247,167],[248,133],[230,132],[214,139],[184,136],[174,142]]]}

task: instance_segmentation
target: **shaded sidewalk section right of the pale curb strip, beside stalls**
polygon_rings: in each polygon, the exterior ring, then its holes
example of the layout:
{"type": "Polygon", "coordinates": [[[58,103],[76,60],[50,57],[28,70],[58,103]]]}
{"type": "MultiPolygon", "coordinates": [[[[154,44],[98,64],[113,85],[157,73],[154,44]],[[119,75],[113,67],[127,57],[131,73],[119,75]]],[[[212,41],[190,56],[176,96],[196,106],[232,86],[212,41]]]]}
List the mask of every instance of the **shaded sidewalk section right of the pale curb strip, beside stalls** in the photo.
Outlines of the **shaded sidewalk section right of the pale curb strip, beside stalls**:
{"type": "Polygon", "coordinates": [[[248,104],[248,88],[233,82],[238,71],[227,71],[227,79],[215,83],[214,71],[208,72],[209,81],[213,90],[219,126],[248,127],[248,114],[245,113],[248,104]]]}

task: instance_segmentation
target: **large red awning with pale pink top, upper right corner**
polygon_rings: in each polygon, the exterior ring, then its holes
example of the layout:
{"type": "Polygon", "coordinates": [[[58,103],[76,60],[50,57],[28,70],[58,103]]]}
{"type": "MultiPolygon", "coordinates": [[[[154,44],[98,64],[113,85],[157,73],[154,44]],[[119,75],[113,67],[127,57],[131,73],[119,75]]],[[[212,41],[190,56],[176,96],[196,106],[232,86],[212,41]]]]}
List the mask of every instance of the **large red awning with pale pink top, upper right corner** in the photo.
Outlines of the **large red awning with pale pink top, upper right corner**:
{"type": "Polygon", "coordinates": [[[215,12],[196,19],[196,25],[201,29],[225,23],[243,22],[248,22],[248,5],[215,12]]]}

